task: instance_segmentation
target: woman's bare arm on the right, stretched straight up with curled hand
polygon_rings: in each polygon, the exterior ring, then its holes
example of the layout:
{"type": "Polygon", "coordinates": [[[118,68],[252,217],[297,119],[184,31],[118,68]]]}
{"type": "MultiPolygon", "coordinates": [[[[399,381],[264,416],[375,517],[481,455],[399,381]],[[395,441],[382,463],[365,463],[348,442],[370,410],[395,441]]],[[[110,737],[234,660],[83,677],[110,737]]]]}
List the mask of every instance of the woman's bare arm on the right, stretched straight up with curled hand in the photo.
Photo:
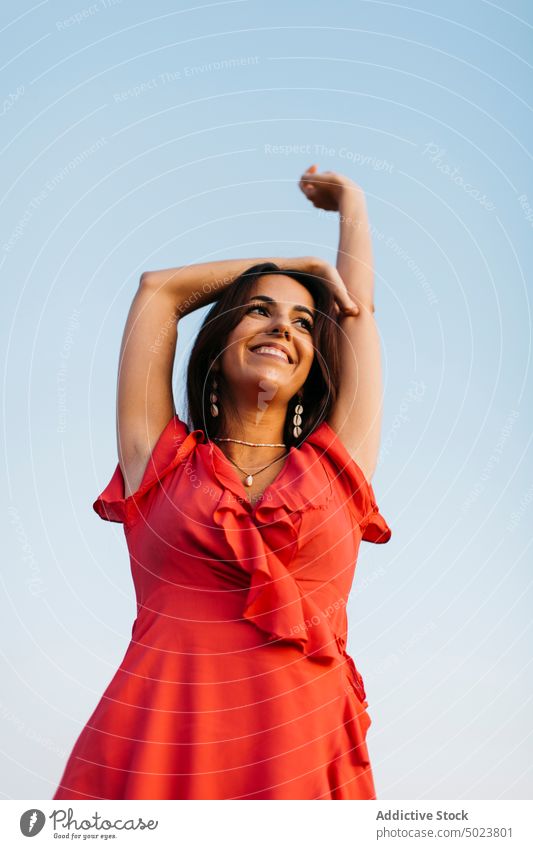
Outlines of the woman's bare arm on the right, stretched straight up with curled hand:
{"type": "Polygon", "coordinates": [[[337,270],[359,314],[339,316],[342,378],[328,423],[370,481],[381,438],[382,377],[366,200],[353,181],[332,171],[319,174],[316,166],[305,172],[300,187],[316,207],[339,213],[337,270]]]}

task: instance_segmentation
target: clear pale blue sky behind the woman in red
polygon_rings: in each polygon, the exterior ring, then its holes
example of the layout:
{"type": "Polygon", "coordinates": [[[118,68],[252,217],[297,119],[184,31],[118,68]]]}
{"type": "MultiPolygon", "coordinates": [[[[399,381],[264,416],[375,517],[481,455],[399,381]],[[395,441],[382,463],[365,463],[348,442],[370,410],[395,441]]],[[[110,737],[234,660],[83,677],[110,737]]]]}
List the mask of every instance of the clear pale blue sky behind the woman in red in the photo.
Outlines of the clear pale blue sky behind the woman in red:
{"type": "Polygon", "coordinates": [[[378,798],[531,798],[531,4],[10,5],[1,796],[51,798],[131,636],[122,528],[92,502],[139,275],[334,261],[297,188],[315,162],[374,228],[393,537],[361,547],[348,649],[378,798]]]}

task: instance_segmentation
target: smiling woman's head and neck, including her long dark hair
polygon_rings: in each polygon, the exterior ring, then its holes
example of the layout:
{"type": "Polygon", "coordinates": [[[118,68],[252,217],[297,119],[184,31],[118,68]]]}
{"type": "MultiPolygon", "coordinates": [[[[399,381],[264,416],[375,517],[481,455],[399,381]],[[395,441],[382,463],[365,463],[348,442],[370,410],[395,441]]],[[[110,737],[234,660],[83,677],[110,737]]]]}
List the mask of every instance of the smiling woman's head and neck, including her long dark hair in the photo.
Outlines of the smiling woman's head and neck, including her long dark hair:
{"type": "MultiPolygon", "coordinates": [[[[302,442],[327,415],[339,381],[340,330],[334,293],[323,274],[313,273],[325,269],[319,260],[309,261],[308,269],[255,264],[211,308],[187,371],[192,427],[209,422],[213,440],[232,436],[290,446],[302,442]],[[285,349],[288,361],[254,352],[272,343],[285,349]],[[223,400],[214,417],[206,403],[213,381],[217,398],[223,400]],[[299,436],[292,421],[296,405],[306,411],[299,436]]],[[[253,472],[254,466],[279,454],[267,447],[258,453],[258,447],[263,446],[235,443],[227,449],[228,456],[253,472]]]]}

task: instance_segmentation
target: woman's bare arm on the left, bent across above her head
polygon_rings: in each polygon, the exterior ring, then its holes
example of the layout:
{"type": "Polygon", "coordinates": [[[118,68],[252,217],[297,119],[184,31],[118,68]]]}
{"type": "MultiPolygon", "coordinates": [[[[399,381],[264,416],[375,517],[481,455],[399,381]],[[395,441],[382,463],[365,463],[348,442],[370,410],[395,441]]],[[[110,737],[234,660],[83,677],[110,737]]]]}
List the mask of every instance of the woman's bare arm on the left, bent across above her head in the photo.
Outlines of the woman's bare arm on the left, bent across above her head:
{"type": "Polygon", "coordinates": [[[316,273],[317,257],[228,259],[146,271],[122,337],[117,386],[117,449],[124,495],[135,492],[159,436],[175,415],[172,373],[180,318],[217,300],[247,268],[275,262],[316,273]]]}

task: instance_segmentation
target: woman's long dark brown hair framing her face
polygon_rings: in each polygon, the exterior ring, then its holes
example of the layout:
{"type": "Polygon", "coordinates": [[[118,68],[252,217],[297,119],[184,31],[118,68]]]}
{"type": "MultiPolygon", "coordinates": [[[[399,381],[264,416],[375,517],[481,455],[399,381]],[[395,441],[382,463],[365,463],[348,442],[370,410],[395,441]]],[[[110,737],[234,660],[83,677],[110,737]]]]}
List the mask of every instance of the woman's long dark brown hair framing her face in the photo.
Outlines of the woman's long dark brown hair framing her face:
{"type": "Polygon", "coordinates": [[[211,416],[210,393],[213,364],[225,350],[231,331],[246,312],[246,304],[255,281],[267,274],[291,277],[311,293],[315,302],[313,346],[315,355],[304,385],[290,399],[284,424],[285,445],[298,445],[326,418],[334,404],[339,387],[339,326],[335,314],[335,298],[323,280],[304,271],[281,269],[276,263],[253,265],[227,286],[207,313],[194,342],[187,366],[187,406],[190,429],[203,430],[209,439],[225,432],[228,419],[239,419],[238,410],[226,392],[224,375],[216,372],[219,415],[211,416]],[[293,435],[294,405],[301,396],[304,412],[302,433],[293,435]]]}

